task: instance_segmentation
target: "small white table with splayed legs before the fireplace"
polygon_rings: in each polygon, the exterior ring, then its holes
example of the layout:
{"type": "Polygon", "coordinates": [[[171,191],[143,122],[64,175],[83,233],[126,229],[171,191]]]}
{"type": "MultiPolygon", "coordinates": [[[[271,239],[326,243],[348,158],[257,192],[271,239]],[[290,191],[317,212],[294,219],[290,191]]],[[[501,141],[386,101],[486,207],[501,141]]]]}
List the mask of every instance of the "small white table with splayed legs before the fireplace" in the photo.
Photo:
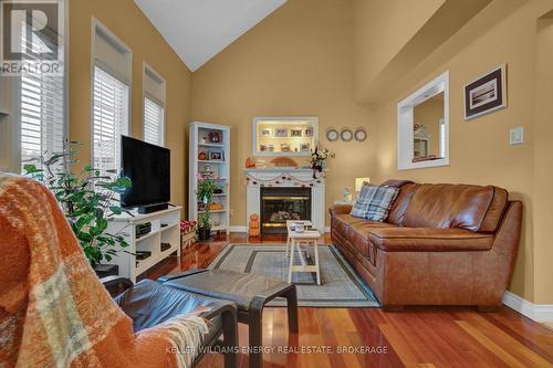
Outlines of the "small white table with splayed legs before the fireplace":
{"type": "Polygon", "coordinates": [[[304,225],[312,225],[311,221],[286,221],[286,256],[290,255],[290,266],[288,271],[288,282],[292,283],[292,274],[294,272],[314,272],[316,274],[316,284],[321,285],[321,265],[319,263],[319,239],[321,233],[319,230],[304,230],[298,232],[292,230],[293,224],[303,223],[304,225]],[[307,264],[305,257],[303,256],[302,245],[313,244],[313,252],[315,256],[314,264],[307,264]],[[290,254],[289,254],[290,249],[290,254]],[[298,250],[300,255],[301,264],[294,264],[294,251],[298,250]]]}

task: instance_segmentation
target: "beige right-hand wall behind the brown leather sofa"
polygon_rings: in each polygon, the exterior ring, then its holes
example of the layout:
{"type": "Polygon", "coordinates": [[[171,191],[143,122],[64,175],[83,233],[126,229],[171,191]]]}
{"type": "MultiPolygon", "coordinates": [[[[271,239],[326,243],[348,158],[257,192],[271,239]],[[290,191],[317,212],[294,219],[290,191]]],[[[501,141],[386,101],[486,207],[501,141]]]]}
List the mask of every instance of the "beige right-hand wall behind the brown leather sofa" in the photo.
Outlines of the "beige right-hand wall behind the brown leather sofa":
{"type": "MultiPolygon", "coordinates": [[[[547,198],[553,179],[551,112],[543,109],[541,123],[534,122],[535,90],[543,98],[551,98],[551,84],[534,83],[536,20],[552,8],[552,1],[494,1],[424,63],[403,75],[392,88],[394,94],[374,111],[378,124],[378,180],[395,177],[424,182],[492,183],[524,202],[523,235],[510,290],[535,303],[553,303],[549,240],[552,203],[547,198]],[[482,24],[490,25],[484,29],[482,24]],[[509,107],[465,122],[463,85],[502,63],[508,65],[509,107]],[[397,103],[444,71],[450,75],[450,165],[398,171],[397,103]],[[509,129],[515,126],[524,127],[525,143],[510,146],[509,129]]],[[[544,57],[551,65],[553,36],[544,36],[542,42],[547,43],[544,57]]]]}

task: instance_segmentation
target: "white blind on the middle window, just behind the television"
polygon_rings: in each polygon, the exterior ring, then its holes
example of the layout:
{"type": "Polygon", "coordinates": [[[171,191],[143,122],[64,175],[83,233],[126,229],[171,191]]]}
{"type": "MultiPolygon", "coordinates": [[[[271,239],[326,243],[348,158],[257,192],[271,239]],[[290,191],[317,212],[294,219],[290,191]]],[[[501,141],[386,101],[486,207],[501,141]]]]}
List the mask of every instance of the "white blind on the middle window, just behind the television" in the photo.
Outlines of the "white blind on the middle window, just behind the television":
{"type": "Polygon", "coordinates": [[[93,104],[93,166],[118,170],[121,135],[128,134],[128,86],[95,66],[93,104]]]}

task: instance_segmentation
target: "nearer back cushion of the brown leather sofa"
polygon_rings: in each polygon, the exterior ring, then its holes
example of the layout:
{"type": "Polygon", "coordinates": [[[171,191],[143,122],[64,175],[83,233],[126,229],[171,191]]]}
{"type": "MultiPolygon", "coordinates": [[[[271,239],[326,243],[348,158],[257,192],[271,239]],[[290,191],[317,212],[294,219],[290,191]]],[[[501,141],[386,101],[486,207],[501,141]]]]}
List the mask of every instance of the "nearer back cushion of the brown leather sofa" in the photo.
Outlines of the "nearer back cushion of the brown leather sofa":
{"type": "Polygon", "coordinates": [[[493,194],[491,186],[421,185],[407,207],[403,225],[479,231],[493,194]]]}

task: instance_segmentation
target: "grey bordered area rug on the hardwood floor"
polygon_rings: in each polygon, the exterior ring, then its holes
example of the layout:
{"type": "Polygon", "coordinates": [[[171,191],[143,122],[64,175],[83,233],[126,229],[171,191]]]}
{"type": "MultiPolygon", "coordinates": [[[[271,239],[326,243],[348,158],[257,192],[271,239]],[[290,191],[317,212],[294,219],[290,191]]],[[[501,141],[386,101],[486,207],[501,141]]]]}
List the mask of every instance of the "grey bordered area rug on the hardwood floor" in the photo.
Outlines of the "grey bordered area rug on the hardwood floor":
{"type": "MultiPolygon", "coordinates": [[[[312,246],[307,254],[313,254],[312,246]]],[[[299,306],[310,307],[378,307],[373,292],[355,273],[334,245],[319,245],[321,285],[313,273],[294,273],[292,282],[298,288],[299,306]]],[[[312,263],[312,259],[307,260],[312,263]]],[[[289,259],[285,246],[271,244],[229,244],[208,266],[254,273],[288,280],[289,259]]],[[[294,264],[300,264],[298,252],[294,264]]],[[[270,306],[283,306],[284,299],[274,299],[270,306]]]]}

